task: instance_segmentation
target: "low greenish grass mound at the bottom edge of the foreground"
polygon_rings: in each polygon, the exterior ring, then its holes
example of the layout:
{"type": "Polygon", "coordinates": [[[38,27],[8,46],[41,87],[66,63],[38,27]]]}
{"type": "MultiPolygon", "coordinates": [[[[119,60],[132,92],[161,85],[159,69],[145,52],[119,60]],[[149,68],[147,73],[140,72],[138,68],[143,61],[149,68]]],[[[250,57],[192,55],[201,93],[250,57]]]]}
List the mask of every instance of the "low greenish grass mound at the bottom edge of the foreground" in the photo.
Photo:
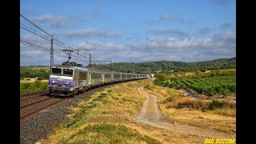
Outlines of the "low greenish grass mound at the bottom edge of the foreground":
{"type": "Polygon", "coordinates": [[[159,143],[154,138],[123,125],[95,123],[78,130],[58,143],[159,143]]]}

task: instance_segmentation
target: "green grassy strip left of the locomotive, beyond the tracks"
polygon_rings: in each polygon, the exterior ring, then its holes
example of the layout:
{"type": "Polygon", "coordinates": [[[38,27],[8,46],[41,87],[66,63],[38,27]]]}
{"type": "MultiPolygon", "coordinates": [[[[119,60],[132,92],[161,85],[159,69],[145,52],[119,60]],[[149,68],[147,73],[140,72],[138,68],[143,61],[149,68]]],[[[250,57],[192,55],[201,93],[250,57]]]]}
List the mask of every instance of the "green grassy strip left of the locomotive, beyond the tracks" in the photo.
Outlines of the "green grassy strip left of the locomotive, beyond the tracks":
{"type": "Polygon", "coordinates": [[[48,82],[21,82],[20,94],[33,93],[36,91],[47,90],[48,82]]]}

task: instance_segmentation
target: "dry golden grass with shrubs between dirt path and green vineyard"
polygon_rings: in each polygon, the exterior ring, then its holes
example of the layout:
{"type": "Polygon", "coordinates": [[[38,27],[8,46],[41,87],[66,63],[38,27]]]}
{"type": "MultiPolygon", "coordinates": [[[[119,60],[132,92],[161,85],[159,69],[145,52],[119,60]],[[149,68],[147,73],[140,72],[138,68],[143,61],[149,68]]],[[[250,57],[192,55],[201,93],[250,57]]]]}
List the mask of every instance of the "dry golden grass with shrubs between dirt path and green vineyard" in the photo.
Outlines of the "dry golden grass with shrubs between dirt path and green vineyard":
{"type": "Polygon", "coordinates": [[[158,106],[170,122],[230,133],[236,132],[234,103],[198,100],[183,96],[177,90],[153,84],[146,86],[145,90],[158,97],[158,106]]]}

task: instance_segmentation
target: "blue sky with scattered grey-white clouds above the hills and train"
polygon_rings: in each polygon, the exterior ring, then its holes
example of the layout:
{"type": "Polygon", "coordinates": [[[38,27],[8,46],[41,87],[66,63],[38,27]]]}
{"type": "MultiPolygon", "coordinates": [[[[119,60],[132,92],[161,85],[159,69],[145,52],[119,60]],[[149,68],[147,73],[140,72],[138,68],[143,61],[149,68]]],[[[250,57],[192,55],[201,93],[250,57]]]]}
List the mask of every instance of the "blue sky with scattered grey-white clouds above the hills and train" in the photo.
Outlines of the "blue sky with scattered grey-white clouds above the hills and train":
{"type": "MultiPolygon", "coordinates": [[[[21,66],[50,66],[50,42],[42,30],[79,50],[70,61],[83,66],[89,53],[95,64],[236,56],[234,0],[21,0],[20,14],[41,29],[20,18],[21,66]]],[[[54,64],[68,60],[63,49],[54,43],[54,64]]]]}

